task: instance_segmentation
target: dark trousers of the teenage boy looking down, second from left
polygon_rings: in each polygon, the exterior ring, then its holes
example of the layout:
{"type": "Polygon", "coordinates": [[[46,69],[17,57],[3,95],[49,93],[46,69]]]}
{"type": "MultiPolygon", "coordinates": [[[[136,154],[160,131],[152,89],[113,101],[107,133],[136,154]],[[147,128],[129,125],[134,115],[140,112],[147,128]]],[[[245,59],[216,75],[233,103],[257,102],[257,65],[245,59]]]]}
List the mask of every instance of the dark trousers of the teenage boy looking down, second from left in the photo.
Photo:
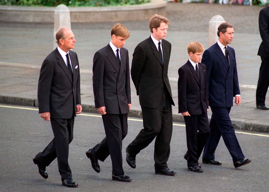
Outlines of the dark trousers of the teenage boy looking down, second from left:
{"type": "Polygon", "coordinates": [[[110,154],[112,174],[123,175],[122,168],[122,140],[128,132],[128,113],[102,115],[106,137],[93,147],[95,158],[104,161],[110,154]]]}

